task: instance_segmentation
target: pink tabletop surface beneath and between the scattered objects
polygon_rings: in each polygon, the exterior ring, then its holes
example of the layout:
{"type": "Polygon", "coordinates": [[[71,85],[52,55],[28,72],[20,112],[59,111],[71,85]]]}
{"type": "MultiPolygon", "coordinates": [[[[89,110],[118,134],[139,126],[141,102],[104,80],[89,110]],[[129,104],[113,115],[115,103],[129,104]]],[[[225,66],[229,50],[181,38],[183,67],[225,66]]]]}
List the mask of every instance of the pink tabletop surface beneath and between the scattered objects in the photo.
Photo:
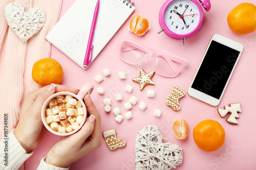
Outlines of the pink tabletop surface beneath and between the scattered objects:
{"type": "MultiPolygon", "coordinates": [[[[74,0],[63,0],[60,17],[73,2],[74,0]]],[[[135,138],[137,132],[147,125],[156,125],[163,137],[182,147],[184,157],[182,165],[177,166],[178,169],[254,169],[256,167],[256,140],[254,136],[256,114],[253,109],[255,106],[254,94],[256,93],[256,31],[247,35],[235,34],[229,29],[226,19],[230,10],[244,1],[211,1],[211,10],[209,12],[204,10],[204,22],[201,29],[194,36],[185,39],[185,45],[182,45],[180,39],[170,38],[164,33],[157,34],[161,30],[158,22],[158,13],[164,2],[164,0],[134,0],[135,13],[147,18],[151,23],[151,29],[144,36],[135,35],[128,31],[130,17],[88,70],[83,70],[52,45],[50,57],[56,59],[62,65],[64,71],[64,78],[61,84],[80,88],[86,82],[93,83],[95,91],[91,97],[101,114],[102,132],[114,128],[117,131],[117,138],[124,139],[127,143],[122,149],[110,151],[106,143],[103,142],[99,149],[73,163],[70,169],[135,169],[135,138]],[[187,94],[188,86],[201,61],[208,41],[212,34],[215,33],[239,41],[244,45],[244,52],[218,106],[223,108],[229,103],[241,103],[242,113],[239,113],[239,125],[236,126],[228,124],[226,122],[227,117],[220,117],[217,112],[218,107],[209,106],[191,98],[187,94]],[[119,37],[135,40],[178,55],[188,60],[188,66],[183,69],[177,78],[173,79],[161,77],[156,73],[153,77],[156,85],[148,85],[140,91],[139,84],[132,81],[132,78],[139,76],[140,68],[120,60],[119,37]],[[105,68],[110,69],[110,77],[102,75],[102,70],[105,68]],[[126,72],[126,80],[119,79],[119,71],[126,72]],[[104,78],[99,84],[94,80],[94,77],[98,74],[104,78]],[[133,86],[132,93],[127,93],[124,90],[126,84],[133,86]],[[177,112],[165,104],[165,100],[174,86],[179,86],[186,92],[184,98],[180,100],[181,110],[177,112]],[[97,93],[98,87],[104,88],[105,93],[103,95],[97,93]],[[155,98],[147,98],[147,90],[155,90],[155,98]],[[114,95],[116,93],[123,94],[122,101],[117,102],[115,100],[114,95]],[[123,104],[128,102],[133,95],[138,98],[138,103],[131,109],[133,118],[130,120],[124,118],[121,123],[117,123],[112,111],[113,108],[119,107],[121,115],[124,116],[126,110],[123,104]],[[104,98],[112,99],[112,110],[109,113],[104,111],[104,98]],[[147,108],[144,111],[138,107],[142,101],[147,104],[147,108]],[[161,117],[154,116],[155,109],[162,111],[161,117]],[[184,140],[177,139],[172,131],[173,122],[178,118],[184,118],[189,126],[189,135],[184,140]],[[217,120],[225,129],[226,140],[223,147],[218,151],[204,152],[194,142],[193,129],[205,119],[217,120]]],[[[256,5],[254,0],[247,0],[246,2],[256,5]]],[[[65,36],[63,36],[63,41],[65,41],[65,36]]],[[[153,62],[144,65],[143,69],[146,72],[154,71],[153,62]]],[[[41,157],[46,156],[52,145],[61,138],[46,131],[41,144],[26,161],[26,169],[36,169],[41,157]]],[[[63,146],[60,146],[60,149],[61,147],[63,146]]]]}

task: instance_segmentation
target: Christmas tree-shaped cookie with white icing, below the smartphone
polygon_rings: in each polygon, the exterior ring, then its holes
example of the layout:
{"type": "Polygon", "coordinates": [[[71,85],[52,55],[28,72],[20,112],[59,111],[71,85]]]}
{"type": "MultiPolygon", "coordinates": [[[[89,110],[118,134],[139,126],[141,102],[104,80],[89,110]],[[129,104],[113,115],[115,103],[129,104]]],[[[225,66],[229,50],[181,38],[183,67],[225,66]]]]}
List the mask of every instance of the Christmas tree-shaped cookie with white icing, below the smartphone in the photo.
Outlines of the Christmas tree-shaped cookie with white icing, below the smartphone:
{"type": "Polygon", "coordinates": [[[241,113],[241,103],[229,104],[229,107],[224,106],[224,110],[220,108],[217,110],[221,117],[225,117],[227,113],[230,113],[226,121],[232,125],[238,125],[237,118],[239,118],[238,113],[241,113]]]}

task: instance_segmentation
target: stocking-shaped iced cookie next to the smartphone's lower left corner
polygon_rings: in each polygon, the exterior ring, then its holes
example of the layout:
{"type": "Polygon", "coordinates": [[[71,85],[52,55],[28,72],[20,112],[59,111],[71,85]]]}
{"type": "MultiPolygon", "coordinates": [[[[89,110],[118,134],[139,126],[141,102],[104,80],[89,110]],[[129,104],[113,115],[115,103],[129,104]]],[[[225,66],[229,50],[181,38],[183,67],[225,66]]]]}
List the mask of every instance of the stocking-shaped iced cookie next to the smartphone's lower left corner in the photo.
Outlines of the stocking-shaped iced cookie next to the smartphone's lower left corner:
{"type": "Polygon", "coordinates": [[[182,98],[185,95],[185,92],[175,86],[173,88],[172,93],[168,95],[168,98],[166,99],[165,103],[167,106],[171,107],[174,111],[180,110],[180,104],[179,104],[179,99],[182,98]]]}

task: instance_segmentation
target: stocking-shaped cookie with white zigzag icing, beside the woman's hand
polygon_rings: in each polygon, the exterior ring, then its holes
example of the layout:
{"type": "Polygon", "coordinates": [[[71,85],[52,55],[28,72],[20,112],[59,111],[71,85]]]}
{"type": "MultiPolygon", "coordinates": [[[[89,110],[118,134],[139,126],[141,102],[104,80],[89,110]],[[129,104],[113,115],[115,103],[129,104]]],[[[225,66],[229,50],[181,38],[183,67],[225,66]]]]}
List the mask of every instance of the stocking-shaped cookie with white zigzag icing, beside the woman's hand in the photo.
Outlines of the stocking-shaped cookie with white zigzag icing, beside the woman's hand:
{"type": "Polygon", "coordinates": [[[126,142],[123,139],[117,139],[115,129],[104,131],[102,134],[111,151],[122,148],[126,145],[126,142]]]}

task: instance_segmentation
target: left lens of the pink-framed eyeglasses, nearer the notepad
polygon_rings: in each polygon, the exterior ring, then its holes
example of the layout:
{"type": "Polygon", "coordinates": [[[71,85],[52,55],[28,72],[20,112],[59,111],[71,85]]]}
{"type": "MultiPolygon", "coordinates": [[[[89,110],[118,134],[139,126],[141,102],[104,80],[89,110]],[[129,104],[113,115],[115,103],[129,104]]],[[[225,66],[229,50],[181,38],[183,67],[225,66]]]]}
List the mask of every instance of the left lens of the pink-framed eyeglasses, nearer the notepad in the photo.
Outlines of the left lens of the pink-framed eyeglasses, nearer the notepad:
{"type": "Polygon", "coordinates": [[[123,42],[121,44],[120,56],[124,61],[130,64],[139,64],[145,59],[146,52],[142,47],[136,44],[123,42]]]}

